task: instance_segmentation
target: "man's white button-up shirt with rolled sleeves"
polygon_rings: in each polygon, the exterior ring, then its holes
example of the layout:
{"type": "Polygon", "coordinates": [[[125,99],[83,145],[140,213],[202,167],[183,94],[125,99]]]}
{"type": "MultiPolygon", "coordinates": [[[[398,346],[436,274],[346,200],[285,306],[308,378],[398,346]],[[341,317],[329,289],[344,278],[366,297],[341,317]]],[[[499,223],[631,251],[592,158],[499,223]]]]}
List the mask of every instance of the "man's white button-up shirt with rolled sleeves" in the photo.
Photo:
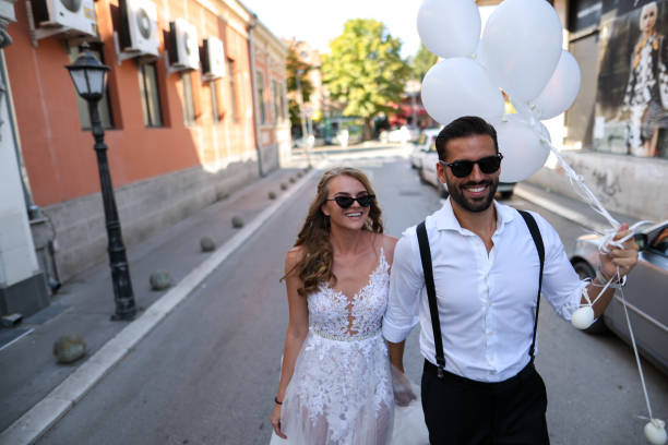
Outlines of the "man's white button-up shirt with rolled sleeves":
{"type": "MultiPolygon", "coordinates": [[[[445,370],[479,382],[501,382],[529,361],[540,262],[526,222],[516,209],[499,204],[493,246],[463,229],[450,200],[427,217],[445,370]]],[[[580,280],[559,234],[532,212],[545,244],[542,298],[564,320],[580,306],[580,280]]],[[[404,340],[420,323],[420,350],[436,364],[433,330],[416,227],[396,244],[383,336],[404,340]],[[419,311],[418,311],[419,306],[419,311]],[[419,314],[418,314],[419,312],[419,314]]]]}

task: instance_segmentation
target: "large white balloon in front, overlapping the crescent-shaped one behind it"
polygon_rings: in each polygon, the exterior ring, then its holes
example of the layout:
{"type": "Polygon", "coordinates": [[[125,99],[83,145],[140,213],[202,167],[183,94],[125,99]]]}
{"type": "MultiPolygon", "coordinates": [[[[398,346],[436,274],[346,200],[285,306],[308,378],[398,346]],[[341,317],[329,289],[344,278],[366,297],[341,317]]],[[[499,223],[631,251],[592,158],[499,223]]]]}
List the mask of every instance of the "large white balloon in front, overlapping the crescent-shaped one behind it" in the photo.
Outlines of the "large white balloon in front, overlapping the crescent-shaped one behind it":
{"type": "Polygon", "coordinates": [[[530,100],[550,80],[562,45],[561,22],[545,0],[505,0],[491,13],[482,47],[487,68],[511,97],[530,100]]]}

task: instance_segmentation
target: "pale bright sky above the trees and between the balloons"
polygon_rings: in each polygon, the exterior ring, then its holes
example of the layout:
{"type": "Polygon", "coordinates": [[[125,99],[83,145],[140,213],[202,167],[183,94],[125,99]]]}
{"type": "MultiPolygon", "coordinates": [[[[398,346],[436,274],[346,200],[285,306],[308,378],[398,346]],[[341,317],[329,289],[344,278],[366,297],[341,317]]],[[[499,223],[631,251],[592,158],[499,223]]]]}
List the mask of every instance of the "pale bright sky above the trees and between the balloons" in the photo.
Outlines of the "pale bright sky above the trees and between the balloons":
{"type": "MultiPolygon", "coordinates": [[[[329,41],[343,33],[349,19],[383,22],[393,37],[402,40],[402,57],[417,53],[420,37],[417,13],[420,0],[241,0],[270,31],[279,38],[296,37],[321,52],[329,52],[329,41]]],[[[493,8],[480,10],[485,23],[493,8]]]]}

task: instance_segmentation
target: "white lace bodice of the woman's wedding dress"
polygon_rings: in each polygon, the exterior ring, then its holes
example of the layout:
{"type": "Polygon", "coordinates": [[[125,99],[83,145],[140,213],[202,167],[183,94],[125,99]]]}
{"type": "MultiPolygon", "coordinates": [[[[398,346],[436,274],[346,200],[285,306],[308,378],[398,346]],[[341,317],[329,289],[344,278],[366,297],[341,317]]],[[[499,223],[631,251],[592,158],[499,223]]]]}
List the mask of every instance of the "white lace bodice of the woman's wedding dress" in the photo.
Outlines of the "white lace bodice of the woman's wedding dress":
{"type": "Polygon", "coordinates": [[[387,305],[389,270],[381,248],[378,267],[355,296],[347,297],[329,284],[321,284],[308,298],[309,329],[325,336],[350,338],[377,333],[387,305]]]}

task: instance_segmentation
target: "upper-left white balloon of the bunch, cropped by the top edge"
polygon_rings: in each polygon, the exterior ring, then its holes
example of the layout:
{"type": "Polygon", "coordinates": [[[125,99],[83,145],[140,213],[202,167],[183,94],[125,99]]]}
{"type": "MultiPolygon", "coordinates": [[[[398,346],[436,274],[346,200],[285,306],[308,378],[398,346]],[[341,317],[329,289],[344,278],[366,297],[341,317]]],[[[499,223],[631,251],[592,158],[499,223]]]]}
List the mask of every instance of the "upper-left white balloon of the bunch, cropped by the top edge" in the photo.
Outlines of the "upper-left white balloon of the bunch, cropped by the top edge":
{"type": "Polygon", "coordinates": [[[480,39],[480,12],[474,0],[424,0],[417,27],[422,44],[434,55],[469,56],[480,39]]]}

